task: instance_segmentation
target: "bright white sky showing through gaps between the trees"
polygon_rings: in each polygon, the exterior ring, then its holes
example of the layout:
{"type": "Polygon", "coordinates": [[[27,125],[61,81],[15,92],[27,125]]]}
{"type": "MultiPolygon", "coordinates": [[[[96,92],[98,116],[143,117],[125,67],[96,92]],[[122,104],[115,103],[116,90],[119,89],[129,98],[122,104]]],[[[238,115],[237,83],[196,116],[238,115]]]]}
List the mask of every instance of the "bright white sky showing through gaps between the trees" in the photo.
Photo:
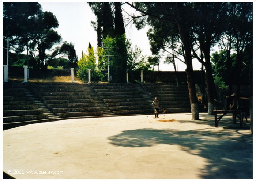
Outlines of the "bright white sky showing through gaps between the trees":
{"type": "MultiPolygon", "coordinates": [[[[76,54],[78,58],[81,57],[82,51],[86,52],[89,42],[93,47],[97,46],[97,33],[91,26],[91,20],[95,21],[96,16],[92,12],[86,1],[38,1],[43,11],[52,12],[58,22],[59,27],[55,30],[62,36],[63,41],[68,43],[72,42],[75,46],[76,54]]],[[[126,12],[131,13],[135,10],[129,5],[124,4],[122,6],[126,12]]],[[[123,11],[123,18],[127,18],[128,15],[123,11]]],[[[139,46],[143,51],[143,55],[151,55],[150,44],[147,38],[148,27],[137,30],[135,25],[130,23],[125,27],[126,37],[131,40],[132,46],[139,46]]],[[[178,71],[185,71],[185,64],[177,62],[178,71]]],[[[194,59],[193,69],[199,70],[201,64],[194,59]]],[[[158,70],[158,67],[154,67],[158,70]]],[[[171,64],[164,64],[161,60],[159,70],[162,71],[174,71],[174,67],[171,64]]]]}

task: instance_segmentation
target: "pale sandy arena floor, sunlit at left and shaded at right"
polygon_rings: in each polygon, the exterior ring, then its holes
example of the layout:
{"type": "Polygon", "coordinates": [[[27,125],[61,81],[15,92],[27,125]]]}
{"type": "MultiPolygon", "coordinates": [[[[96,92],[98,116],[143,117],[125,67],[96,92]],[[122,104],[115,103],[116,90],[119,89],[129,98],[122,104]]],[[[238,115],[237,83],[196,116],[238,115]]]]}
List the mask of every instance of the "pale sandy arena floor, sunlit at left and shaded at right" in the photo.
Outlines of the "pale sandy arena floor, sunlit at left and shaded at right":
{"type": "Polygon", "coordinates": [[[252,179],[249,123],[191,114],[117,116],[3,131],[3,171],[18,179],[252,179]]]}

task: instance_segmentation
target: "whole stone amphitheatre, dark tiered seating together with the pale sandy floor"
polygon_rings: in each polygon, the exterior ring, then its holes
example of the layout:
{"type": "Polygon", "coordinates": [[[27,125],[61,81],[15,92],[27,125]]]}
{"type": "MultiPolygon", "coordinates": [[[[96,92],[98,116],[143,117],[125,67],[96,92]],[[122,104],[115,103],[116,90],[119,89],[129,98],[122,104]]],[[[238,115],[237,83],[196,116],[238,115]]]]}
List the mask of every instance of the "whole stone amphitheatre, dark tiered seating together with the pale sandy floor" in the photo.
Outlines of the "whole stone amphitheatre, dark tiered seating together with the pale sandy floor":
{"type": "Polygon", "coordinates": [[[4,178],[252,178],[249,123],[200,119],[185,83],[3,82],[4,178]]]}

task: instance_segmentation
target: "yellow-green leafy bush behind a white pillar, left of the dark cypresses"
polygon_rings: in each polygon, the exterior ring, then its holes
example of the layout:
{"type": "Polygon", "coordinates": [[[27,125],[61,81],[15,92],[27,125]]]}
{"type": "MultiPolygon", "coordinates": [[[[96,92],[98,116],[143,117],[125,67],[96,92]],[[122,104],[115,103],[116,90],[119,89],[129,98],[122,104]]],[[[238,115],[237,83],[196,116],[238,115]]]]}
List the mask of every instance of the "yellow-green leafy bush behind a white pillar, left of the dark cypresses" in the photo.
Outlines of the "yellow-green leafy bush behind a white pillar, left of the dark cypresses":
{"type": "MultiPolygon", "coordinates": [[[[100,49],[97,50],[100,51],[100,49]]],[[[88,81],[88,69],[91,69],[91,81],[97,82],[102,80],[101,71],[97,68],[95,54],[98,54],[98,52],[94,52],[93,47],[88,48],[87,55],[82,53],[82,57],[77,63],[77,76],[84,82],[88,81]]]]}

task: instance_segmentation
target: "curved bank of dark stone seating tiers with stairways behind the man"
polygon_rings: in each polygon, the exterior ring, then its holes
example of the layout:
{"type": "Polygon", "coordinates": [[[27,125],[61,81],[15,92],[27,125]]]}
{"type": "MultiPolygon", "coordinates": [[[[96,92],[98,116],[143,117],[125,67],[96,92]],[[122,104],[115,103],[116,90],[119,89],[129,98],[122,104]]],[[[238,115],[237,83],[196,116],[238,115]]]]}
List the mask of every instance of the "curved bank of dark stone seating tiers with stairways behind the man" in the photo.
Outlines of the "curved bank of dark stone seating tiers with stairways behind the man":
{"type": "Polygon", "coordinates": [[[186,84],[177,88],[175,83],[3,82],[3,129],[62,119],[152,114],[154,97],[166,113],[191,112],[186,84]]]}

